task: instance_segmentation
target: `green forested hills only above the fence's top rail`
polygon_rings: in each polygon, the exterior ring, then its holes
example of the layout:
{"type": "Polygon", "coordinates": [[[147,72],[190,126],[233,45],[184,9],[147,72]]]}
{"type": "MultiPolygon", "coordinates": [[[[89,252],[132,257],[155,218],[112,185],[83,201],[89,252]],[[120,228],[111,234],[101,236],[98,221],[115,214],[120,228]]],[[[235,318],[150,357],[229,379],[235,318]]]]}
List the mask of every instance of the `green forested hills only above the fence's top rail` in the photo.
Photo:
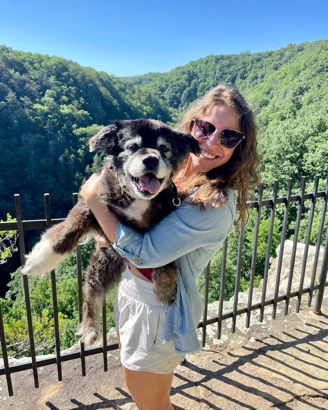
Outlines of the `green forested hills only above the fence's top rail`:
{"type": "Polygon", "coordinates": [[[169,73],[118,78],[59,57],[0,47],[0,219],[64,216],[71,193],[99,164],[86,140],[114,118],[175,123],[183,109],[220,82],[250,98],[260,125],[263,179],[327,175],[328,41],[276,51],[210,55],[169,73]],[[87,165],[90,165],[86,170],[87,165]]]}

